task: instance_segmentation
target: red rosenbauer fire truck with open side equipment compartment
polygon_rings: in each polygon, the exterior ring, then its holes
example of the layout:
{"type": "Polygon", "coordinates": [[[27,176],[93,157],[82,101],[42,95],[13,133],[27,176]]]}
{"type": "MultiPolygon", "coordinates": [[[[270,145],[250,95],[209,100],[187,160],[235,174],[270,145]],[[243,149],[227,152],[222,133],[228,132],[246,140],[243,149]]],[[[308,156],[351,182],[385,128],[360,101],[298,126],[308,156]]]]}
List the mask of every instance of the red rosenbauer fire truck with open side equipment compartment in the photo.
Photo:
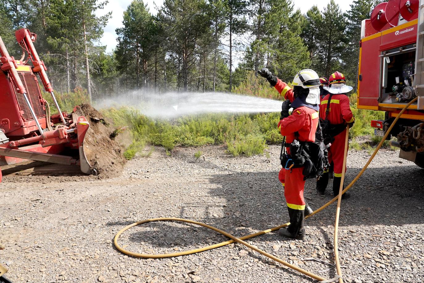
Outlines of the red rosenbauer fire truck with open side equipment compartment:
{"type": "Polygon", "coordinates": [[[391,130],[399,157],[424,168],[424,0],[389,0],[363,20],[359,51],[357,108],[385,111],[372,120],[383,136],[394,117],[415,97],[391,130]],[[421,3],[422,2],[422,3],[421,3]],[[397,141],[394,140],[397,138],[397,141]]]}

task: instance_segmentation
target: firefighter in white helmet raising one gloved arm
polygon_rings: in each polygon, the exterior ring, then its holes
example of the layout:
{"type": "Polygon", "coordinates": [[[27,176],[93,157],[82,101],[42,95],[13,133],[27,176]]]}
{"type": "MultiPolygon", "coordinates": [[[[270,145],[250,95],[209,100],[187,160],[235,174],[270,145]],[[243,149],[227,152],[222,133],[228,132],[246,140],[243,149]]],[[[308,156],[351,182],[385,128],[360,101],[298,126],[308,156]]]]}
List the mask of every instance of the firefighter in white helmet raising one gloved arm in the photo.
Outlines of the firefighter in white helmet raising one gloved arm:
{"type": "MultiPolygon", "coordinates": [[[[281,118],[278,123],[280,132],[286,137],[286,145],[299,142],[315,142],[315,132],[318,126],[320,103],[320,80],[315,71],[305,69],[299,71],[293,79],[290,88],[285,82],[273,76],[267,69],[258,71],[286,99],[282,104],[281,118]],[[291,114],[289,109],[293,108],[291,114]]],[[[286,147],[287,153],[290,149],[286,147]]],[[[304,167],[290,168],[279,173],[279,179],[284,186],[284,196],[290,216],[290,225],[279,230],[279,234],[287,238],[303,239],[305,236],[305,207],[303,191],[305,185],[304,167]]],[[[310,209],[310,207],[308,207],[310,209]]],[[[307,211],[307,213],[312,213],[307,211]]]]}

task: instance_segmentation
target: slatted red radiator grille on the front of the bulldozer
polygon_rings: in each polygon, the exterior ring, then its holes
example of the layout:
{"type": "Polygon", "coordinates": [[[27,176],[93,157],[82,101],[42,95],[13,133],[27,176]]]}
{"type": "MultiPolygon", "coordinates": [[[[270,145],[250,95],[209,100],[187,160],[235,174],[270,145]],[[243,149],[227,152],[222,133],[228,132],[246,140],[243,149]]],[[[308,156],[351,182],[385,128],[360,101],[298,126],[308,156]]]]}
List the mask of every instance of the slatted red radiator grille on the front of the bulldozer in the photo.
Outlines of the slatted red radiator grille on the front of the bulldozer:
{"type": "MultiPolygon", "coordinates": [[[[36,76],[30,72],[18,71],[18,74],[22,81],[22,84],[25,87],[25,93],[31,103],[32,108],[34,109],[35,115],[37,116],[38,119],[45,118],[46,114],[45,114],[43,104],[40,101],[41,93],[40,93],[40,88],[38,86],[38,81],[36,79],[36,76]]],[[[29,110],[25,102],[24,96],[17,91],[17,87],[14,81],[12,81],[12,85],[15,91],[16,99],[19,104],[19,108],[21,112],[23,111],[22,117],[24,118],[25,121],[33,120],[31,111],[29,110]]]]}

